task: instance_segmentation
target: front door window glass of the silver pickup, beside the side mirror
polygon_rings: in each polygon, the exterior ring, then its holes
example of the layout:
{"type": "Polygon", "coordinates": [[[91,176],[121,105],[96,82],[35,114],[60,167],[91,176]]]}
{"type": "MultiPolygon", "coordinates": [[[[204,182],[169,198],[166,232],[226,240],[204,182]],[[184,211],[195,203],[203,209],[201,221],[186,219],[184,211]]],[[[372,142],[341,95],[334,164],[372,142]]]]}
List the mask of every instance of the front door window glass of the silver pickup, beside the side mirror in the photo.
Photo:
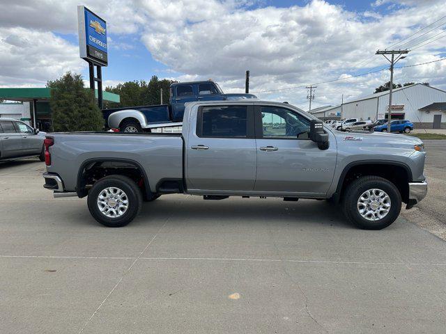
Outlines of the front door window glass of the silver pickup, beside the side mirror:
{"type": "Polygon", "coordinates": [[[263,138],[309,138],[309,120],[289,109],[262,106],[263,138]]]}

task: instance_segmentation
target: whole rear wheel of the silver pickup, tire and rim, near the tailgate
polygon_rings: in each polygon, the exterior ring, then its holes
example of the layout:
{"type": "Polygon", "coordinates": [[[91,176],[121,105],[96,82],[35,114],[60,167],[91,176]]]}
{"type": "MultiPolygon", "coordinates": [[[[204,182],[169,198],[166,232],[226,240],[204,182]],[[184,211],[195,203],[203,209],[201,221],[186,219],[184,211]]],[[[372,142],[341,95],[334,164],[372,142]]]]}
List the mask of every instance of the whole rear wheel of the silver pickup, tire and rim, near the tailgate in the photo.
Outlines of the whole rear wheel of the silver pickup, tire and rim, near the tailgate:
{"type": "Polygon", "coordinates": [[[130,177],[110,175],[93,185],[87,203],[96,221],[109,228],[121,228],[139,213],[142,196],[130,177]]]}

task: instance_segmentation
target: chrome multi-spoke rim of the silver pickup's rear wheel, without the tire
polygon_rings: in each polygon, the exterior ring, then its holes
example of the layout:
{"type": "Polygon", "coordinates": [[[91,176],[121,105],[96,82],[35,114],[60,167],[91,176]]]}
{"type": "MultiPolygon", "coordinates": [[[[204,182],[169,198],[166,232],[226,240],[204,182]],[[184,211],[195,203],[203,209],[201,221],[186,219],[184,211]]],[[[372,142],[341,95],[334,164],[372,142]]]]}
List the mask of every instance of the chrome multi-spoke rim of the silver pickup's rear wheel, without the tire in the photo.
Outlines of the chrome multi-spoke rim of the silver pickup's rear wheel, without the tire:
{"type": "Polygon", "coordinates": [[[121,217],[128,209],[127,194],[115,186],[102,189],[97,202],[101,214],[108,218],[121,217]]]}

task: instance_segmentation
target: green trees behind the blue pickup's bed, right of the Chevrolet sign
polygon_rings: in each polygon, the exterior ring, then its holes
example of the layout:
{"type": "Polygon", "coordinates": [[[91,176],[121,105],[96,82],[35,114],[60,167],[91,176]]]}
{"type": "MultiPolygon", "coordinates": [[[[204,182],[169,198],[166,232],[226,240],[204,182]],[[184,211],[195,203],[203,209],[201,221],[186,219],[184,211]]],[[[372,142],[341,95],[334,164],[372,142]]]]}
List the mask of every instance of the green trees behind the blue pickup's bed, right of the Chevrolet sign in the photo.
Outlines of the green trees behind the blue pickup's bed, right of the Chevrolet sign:
{"type": "Polygon", "coordinates": [[[126,81],[123,84],[118,84],[115,87],[107,86],[105,90],[110,93],[118,94],[121,97],[121,102],[109,104],[113,107],[123,106],[144,106],[161,103],[161,88],[162,88],[162,102],[169,103],[170,91],[169,87],[172,83],[169,79],[158,79],[156,75],[151,77],[148,83],[144,80],[126,81]]]}

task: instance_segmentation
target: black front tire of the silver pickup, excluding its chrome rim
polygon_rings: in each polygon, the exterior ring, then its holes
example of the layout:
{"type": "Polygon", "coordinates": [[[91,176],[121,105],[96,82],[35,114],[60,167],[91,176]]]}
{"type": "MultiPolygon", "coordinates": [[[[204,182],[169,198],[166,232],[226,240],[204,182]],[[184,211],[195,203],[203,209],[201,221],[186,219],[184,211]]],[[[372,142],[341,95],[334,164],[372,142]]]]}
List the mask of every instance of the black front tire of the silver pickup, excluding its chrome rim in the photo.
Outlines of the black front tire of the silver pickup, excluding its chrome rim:
{"type": "Polygon", "coordinates": [[[342,207],[346,218],[357,228],[363,230],[382,230],[398,218],[401,211],[401,193],[392,182],[378,176],[362,176],[348,184],[344,191],[342,207]],[[358,200],[369,189],[380,189],[390,198],[390,209],[387,215],[376,221],[364,218],[358,209],[358,200]]]}

